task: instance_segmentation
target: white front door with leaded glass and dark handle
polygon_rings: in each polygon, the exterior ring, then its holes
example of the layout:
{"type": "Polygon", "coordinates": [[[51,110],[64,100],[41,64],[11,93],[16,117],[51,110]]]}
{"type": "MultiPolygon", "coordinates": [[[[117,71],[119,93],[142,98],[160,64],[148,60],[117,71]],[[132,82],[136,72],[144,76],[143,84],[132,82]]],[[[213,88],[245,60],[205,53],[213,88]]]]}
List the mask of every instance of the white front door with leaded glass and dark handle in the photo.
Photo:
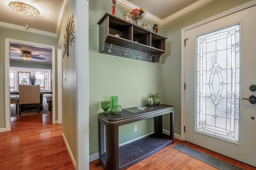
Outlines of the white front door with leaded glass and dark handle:
{"type": "Polygon", "coordinates": [[[185,140],[256,166],[256,6],[186,31],[185,140]],[[255,118],[255,119],[254,119],[255,118]]]}

